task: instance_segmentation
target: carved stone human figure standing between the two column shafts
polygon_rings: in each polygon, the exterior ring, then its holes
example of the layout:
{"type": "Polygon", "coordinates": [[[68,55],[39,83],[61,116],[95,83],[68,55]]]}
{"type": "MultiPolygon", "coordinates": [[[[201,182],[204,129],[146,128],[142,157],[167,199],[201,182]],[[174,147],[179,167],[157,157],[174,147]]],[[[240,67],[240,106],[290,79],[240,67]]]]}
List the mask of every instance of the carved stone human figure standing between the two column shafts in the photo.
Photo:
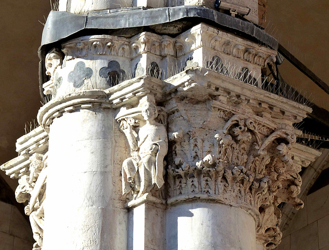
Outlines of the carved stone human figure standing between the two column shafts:
{"type": "Polygon", "coordinates": [[[121,121],[120,128],[125,133],[131,147],[131,157],[122,164],[123,194],[133,191],[137,198],[149,193],[156,185],[161,188],[163,181],[163,157],[168,151],[165,126],[155,121],[157,108],[147,102],[142,106],[142,116],[146,123],[134,134],[132,124],[121,121]]]}

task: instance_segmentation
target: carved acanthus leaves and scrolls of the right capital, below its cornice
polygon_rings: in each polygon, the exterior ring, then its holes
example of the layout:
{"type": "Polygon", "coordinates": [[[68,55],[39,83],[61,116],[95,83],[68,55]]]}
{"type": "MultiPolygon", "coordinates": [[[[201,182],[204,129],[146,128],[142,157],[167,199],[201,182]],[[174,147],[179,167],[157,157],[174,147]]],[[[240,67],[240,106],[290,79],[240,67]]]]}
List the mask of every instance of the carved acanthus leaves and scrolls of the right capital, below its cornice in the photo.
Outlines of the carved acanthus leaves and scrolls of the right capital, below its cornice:
{"type": "Polygon", "coordinates": [[[294,168],[290,156],[296,136],[289,129],[273,131],[246,115],[211,112],[226,120],[223,129],[213,134],[215,141],[206,137],[209,130],[169,133],[169,197],[179,200],[204,195],[205,199],[241,207],[258,218],[260,244],[274,248],[282,237],[279,204],[303,206],[297,198],[300,170],[294,168]]]}

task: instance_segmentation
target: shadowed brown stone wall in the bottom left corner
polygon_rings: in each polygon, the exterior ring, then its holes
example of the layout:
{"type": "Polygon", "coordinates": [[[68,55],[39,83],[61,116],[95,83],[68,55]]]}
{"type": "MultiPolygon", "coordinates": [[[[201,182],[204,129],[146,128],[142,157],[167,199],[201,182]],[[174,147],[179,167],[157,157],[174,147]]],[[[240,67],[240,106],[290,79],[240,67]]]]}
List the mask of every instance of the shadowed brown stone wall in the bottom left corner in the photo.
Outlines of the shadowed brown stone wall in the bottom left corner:
{"type": "Polygon", "coordinates": [[[32,230],[19,210],[0,201],[0,250],[30,250],[32,230]]]}

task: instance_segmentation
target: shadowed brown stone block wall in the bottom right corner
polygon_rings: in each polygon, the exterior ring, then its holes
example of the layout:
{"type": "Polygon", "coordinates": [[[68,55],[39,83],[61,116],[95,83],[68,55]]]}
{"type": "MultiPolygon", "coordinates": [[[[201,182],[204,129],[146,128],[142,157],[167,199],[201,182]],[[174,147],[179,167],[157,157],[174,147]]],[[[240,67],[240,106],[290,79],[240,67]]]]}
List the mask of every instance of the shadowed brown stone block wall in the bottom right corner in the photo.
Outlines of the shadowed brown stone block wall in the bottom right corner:
{"type": "MultiPolygon", "coordinates": [[[[329,166],[327,166],[329,167],[329,166]]],[[[277,250],[329,249],[329,185],[307,195],[277,250]]]]}

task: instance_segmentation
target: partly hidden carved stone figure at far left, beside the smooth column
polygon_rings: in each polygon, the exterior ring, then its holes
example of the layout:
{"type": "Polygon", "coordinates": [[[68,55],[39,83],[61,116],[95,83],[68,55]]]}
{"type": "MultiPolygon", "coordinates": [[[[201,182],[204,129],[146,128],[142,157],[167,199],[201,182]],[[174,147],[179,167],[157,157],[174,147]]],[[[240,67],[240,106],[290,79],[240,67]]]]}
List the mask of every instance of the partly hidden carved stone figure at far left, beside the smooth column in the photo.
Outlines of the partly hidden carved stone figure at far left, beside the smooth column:
{"type": "Polygon", "coordinates": [[[47,156],[43,160],[41,160],[40,155],[32,156],[29,168],[30,174],[21,178],[15,191],[18,202],[23,203],[29,200],[28,205],[25,207],[25,214],[30,216],[33,238],[36,241],[33,250],[40,250],[43,241],[46,159],[47,156]]]}

